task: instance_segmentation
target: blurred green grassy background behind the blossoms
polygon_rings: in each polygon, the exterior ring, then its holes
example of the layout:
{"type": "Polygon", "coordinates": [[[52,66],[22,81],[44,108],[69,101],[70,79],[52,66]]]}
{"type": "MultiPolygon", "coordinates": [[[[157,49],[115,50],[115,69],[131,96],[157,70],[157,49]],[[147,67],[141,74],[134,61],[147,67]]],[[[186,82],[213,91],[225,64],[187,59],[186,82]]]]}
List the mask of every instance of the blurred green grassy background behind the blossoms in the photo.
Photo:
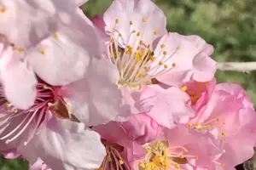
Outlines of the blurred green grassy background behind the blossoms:
{"type": "MultiPolygon", "coordinates": [[[[103,14],[111,0],[90,0],[82,8],[90,18],[103,14]]],[[[169,31],[196,34],[215,47],[217,61],[256,60],[255,0],[156,0],[167,18],[169,31]]],[[[236,82],[256,104],[256,72],[218,71],[218,82],[236,82]]],[[[3,160],[0,170],[26,170],[22,160],[3,160]]]]}

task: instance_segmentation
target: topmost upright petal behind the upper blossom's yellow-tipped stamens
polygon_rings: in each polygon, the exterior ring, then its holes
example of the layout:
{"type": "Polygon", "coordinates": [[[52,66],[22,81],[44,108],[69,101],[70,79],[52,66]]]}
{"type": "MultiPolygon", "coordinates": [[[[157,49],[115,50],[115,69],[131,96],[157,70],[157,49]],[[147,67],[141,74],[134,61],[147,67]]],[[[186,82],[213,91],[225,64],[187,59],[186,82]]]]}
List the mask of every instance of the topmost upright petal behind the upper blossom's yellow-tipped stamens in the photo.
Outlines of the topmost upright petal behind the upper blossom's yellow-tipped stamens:
{"type": "MultiPolygon", "coordinates": [[[[113,1],[103,18],[107,25],[106,31],[112,32],[115,28],[122,35],[125,43],[128,43],[128,37],[132,30],[141,31],[143,36],[140,39],[147,44],[153,42],[154,31],[159,32],[158,36],[166,33],[166,16],[150,0],[113,1]],[[116,19],[119,20],[119,24],[115,23],[116,19]],[[147,21],[143,23],[143,19],[147,21]],[[130,25],[130,21],[132,25],[130,25]]],[[[134,39],[130,38],[130,40],[133,42],[134,39]]]]}

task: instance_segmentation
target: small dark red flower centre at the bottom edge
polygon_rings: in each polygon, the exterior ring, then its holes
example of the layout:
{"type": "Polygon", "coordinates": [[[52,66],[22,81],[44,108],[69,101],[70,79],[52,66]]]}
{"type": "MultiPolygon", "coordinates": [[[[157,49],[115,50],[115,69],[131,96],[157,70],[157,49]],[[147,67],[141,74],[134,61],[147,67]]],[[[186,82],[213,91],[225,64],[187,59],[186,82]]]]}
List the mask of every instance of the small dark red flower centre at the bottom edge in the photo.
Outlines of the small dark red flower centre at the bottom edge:
{"type": "Polygon", "coordinates": [[[119,144],[109,144],[106,140],[103,140],[103,144],[106,147],[107,156],[105,156],[102,166],[96,170],[130,170],[130,167],[120,155],[124,147],[119,144]]]}

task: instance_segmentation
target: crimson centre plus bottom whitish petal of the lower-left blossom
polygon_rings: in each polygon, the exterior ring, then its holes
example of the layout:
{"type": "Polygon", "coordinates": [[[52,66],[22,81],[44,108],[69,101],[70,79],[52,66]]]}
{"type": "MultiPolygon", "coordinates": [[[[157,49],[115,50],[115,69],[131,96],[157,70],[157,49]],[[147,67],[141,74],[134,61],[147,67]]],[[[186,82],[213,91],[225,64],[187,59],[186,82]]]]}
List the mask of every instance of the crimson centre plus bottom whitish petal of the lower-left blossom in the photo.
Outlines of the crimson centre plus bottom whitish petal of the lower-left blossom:
{"type": "Polygon", "coordinates": [[[52,169],[96,168],[106,152],[100,135],[84,123],[71,122],[63,95],[67,87],[40,82],[28,110],[19,110],[1,96],[0,152],[16,150],[31,164],[41,158],[52,169]],[[65,120],[67,119],[67,120],[65,120]],[[83,148],[83,149],[81,149],[83,148]]]}

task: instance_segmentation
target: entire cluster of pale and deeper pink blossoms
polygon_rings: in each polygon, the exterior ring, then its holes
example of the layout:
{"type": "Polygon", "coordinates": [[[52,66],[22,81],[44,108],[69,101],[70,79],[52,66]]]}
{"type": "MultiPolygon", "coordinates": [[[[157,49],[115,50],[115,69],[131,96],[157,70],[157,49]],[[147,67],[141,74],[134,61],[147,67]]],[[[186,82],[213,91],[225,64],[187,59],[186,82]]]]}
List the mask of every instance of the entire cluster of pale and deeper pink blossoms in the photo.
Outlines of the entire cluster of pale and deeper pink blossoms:
{"type": "Polygon", "coordinates": [[[212,45],[167,32],[150,0],[92,20],[84,3],[0,0],[3,156],[32,170],[232,170],[253,156],[253,103],[216,81],[212,45]]]}

